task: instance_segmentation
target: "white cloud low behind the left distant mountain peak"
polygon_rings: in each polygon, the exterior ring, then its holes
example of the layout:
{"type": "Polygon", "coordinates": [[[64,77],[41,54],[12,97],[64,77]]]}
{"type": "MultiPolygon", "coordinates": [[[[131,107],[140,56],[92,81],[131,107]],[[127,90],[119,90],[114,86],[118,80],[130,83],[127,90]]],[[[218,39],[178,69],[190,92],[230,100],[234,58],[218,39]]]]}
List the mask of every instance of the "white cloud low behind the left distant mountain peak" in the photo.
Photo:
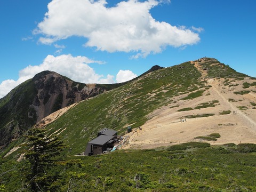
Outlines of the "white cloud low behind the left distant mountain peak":
{"type": "Polygon", "coordinates": [[[59,55],[58,57],[48,55],[40,65],[28,66],[20,70],[17,81],[13,79],[3,81],[0,84],[0,98],[4,97],[15,86],[44,70],[55,71],[81,83],[114,83],[114,76],[108,75],[107,78],[104,78],[103,75],[95,73],[94,69],[89,66],[90,63],[102,64],[103,62],[94,61],[83,56],[73,57],[70,54],[59,55]]]}

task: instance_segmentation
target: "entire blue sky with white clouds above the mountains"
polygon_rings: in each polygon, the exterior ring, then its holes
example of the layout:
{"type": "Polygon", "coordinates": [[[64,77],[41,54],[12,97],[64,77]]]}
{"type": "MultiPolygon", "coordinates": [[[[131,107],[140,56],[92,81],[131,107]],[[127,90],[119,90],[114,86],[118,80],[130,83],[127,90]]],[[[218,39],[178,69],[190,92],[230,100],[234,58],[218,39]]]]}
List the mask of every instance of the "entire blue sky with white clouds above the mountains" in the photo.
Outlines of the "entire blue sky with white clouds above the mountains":
{"type": "Polygon", "coordinates": [[[36,73],[115,83],[211,57],[256,77],[254,0],[1,0],[0,98],[36,73]]]}

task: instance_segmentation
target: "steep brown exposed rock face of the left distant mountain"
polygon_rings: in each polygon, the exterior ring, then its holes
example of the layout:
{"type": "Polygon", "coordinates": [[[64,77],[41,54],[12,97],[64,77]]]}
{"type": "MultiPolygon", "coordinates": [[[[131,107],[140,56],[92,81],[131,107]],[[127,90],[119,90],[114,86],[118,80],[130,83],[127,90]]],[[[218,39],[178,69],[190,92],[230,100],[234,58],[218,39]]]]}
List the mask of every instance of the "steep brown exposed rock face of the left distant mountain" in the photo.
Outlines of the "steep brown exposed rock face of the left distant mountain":
{"type": "Polygon", "coordinates": [[[55,72],[43,71],[37,74],[32,81],[35,84],[37,94],[30,108],[34,108],[37,114],[37,122],[63,107],[78,102],[106,91],[95,84],[76,83],[55,72]],[[79,90],[80,89],[80,90],[79,90]]]}

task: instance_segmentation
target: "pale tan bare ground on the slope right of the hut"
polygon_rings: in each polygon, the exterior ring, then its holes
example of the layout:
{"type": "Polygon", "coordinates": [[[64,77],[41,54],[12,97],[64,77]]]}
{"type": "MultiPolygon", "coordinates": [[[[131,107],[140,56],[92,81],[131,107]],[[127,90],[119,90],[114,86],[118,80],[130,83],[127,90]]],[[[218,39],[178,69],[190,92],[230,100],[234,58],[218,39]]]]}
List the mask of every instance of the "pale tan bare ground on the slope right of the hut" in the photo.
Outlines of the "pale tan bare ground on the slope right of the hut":
{"type": "MultiPolygon", "coordinates": [[[[198,65],[195,65],[197,68],[198,65]]],[[[199,68],[201,73],[204,73],[199,68]]],[[[202,74],[203,76],[205,74],[202,74]]],[[[176,103],[165,106],[154,111],[149,116],[149,120],[141,126],[141,130],[134,129],[130,135],[130,140],[123,149],[152,149],[161,146],[202,141],[211,145],[221,145],[225,143],[256,143],[256,109],[250,102],[256,102],[256,87],[243,89],[244,82],[254,82],[251,78],[244,78],[243,81],[232,82],[238,86],[224,86],[225,79],[207,79],[207,84],[211,85],[204,95],[191,100],[180,100],[175,98],[176,103]],[[235,91],[250,90],[249,94],[234,94],[235,91]],[[235,102],[231,102],[234,99],[235,102]],[[218,100],[215,107],[194,109],[200,103],[218,100]],[[179,106],[179,107],[174,107],[179,106]],[[246,110],[239,110],[238,106],[246,106],[246,110]],[[170,108],[174,107],[174,108],[170,108]],[[194,110],[177,111],[179,109],[191,107],[194,110]],[[230,110],[228,115],[220,115],[221,111],[230,110]],[[215,114],[210,117],[182,118],[187,115],[215,114]],[[181,119],[181,120],[180,120],[181,119]],[[211,133],[221,135],[217,141],[198,140],[195,137],[206,136],[211,133]]],[[[184,97],[184,96],[183,96],[184,97]]]]}

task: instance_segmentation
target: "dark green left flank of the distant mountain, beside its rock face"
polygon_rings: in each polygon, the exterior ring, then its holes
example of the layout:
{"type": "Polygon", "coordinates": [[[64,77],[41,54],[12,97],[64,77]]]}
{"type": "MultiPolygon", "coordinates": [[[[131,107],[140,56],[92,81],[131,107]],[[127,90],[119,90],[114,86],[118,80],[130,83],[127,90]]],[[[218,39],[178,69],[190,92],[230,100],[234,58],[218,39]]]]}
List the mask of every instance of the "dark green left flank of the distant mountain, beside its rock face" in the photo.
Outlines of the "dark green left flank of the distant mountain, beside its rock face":
{"type": "Polygon", "coordinates": [[[29,79],[0,100],[1,144],[9,143],[36,123],[36,111],[28,108],[37,90],[29,79]]]}

